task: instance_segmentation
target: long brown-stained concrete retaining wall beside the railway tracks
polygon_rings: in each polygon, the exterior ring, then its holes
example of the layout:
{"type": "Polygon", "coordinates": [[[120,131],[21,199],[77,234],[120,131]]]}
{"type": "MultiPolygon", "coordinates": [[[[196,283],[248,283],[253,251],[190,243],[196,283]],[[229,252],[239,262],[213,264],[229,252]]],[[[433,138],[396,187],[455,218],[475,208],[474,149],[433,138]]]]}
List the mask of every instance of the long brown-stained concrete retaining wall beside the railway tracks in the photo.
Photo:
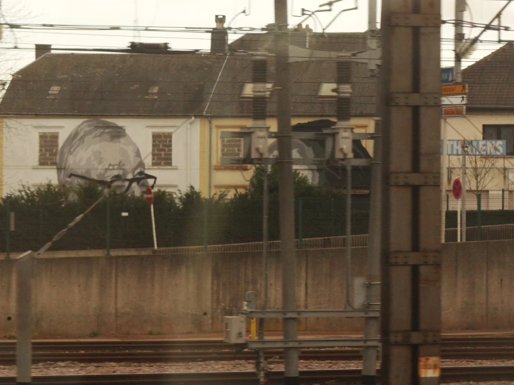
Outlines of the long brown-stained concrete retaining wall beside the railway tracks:
{"type": "MultiPolygon", "coordinates": [[[[259,252],[83,256],[63,252],[38,260],[34,278],[35,337],[91,334],[197,334],[221,331],[244,293],[262,293],[259,252]]],[[[120,254],[120,253],[118,253],[120,254]]],[[[362,276],[366,248],[353,249],[353,277],[362,276]]],[[[514,241],[446,244],[442,266],[445,330],[509,329],[514,322],[514,241]]],[[[269,304],[281,306],[278,253],[269,256],[269,304]]],[[[344,249],[298,252],[298,304],[342,309],[344,249]]],[[[15,334],[14,262],[0,261],[0,336],[15,334]],[[12,317],[8,320],[8,317],[12,317]]],[[[280,330],[280,322],[267,322],[280,330]]],[[[360,331],[362,320],[303,319],[300,330],[360,331]]]]}

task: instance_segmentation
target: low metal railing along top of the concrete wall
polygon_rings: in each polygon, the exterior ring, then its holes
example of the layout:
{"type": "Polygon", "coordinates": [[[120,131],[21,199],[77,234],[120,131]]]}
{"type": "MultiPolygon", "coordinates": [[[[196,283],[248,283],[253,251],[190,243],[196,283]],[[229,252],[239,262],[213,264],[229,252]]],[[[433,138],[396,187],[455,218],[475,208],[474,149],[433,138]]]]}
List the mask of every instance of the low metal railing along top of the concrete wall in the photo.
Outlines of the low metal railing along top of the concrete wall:
{"type": "MultiPolygon", "coordinates": [[[[368,234],[351,236],[352,247],[367,247],[368,234]]],[[[495,224],[492,226],[468,227],[466,239],[472,240],[502,240],[514,239],[514,224],[495,224]]],[[[446,230],[446,242],[457,242],[457,229],[446,230]]],[[[346,236],[333,236],[323,238],[306,238],[296,240],[296,249],[340,249],[346,247],[346,236]]],[[[280,250],[280,240],[268,242],[268,250],[280,250]]],[[[262,252],[262,242],[233,243],[229,245],[208,245],[191,247],[163,247],[157,254],[197,254],[197,253],[227,253],[227,252],[262,252]]]]}

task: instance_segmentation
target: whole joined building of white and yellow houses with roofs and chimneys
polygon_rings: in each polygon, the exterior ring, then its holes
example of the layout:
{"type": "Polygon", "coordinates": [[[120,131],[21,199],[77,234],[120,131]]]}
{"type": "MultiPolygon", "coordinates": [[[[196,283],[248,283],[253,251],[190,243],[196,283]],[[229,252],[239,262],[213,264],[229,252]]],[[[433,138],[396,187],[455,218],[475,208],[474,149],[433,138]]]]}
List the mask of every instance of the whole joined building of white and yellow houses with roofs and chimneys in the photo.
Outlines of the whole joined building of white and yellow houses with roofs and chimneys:
{"type": "MultiPolygon", "coordinates": [[[[223,18],[216,23],[211,52],[205,54],[169,51],[166,44],[132,44],[134,54],[56,54],[38,44],[35,61],[16,72],[0,103],[2,194],[21,183],[73,185],[77,174],[129,179],[120,188],[135,193],[140,186],[130,182],[145,174],[168,191],[193,186],[211,196],[245,189],[252,167],[223,162],[242,149],[220,133],[252,122],[252,55],[239,52],[252,39],[243,36],[229,46],[223,18]],[[153,52],[141,53],[147,51],[153,52]]],[[[291,42],[310,35],[297,31],[291,42]]],[[[348,35],[348,47],[362,46],[363,36],[348,35]]],[[[319,47],[344,49],[342,42],[330,43],[333,36],[312,36],[319,47]]],[[[274,61],[270,56],[271,85],[274,61]]],[[[333,59],[291,63],[292,124],[335,121],[335,79],[333,59]]],[[[376,79],[367,64],[353,63],[352,123],[358,132],[374,131],[375,95],[376,79]]],[[[275,114],[270,90],[271,131],[277,129],[275,114]]],[[[372,153],[371,140],[363,145],[372,153]]],[[[369,183],[361,187],[367,190],[369,183]]]]}

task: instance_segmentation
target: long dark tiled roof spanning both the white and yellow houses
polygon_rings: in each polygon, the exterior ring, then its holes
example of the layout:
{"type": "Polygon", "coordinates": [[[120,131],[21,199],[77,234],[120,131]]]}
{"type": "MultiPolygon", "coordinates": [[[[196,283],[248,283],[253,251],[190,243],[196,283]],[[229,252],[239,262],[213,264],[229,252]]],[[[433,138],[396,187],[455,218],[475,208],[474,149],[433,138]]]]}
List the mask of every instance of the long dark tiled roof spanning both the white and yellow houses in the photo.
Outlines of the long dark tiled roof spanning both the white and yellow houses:
{"type": "MultiPolygon", "coordinates": [[[[271,57],[271,82],[274,66],[271,57]]],[[[246,54],[47,54],[15,74],[0,113],[202,115],[207,107],[208,115],[250,116],[251,99],[241,99],[241,92],[251,79],[252,58],[246,54]],[[51,87],[60,90],[49,94],[51,87]],[[154,87],[159,88],[152,94],[154,87]]],[[[335,100],[317,96],[321,83],[335,79],[334,60],[291,63],[293,115],[335,116],[335,100]]],[[[272,92],[269,115],[276,113],[275,97],[272,92]]],[[[365,63],[353,63],[352,115],[374,115],[375,99],[376,78],[365,63]]]]}

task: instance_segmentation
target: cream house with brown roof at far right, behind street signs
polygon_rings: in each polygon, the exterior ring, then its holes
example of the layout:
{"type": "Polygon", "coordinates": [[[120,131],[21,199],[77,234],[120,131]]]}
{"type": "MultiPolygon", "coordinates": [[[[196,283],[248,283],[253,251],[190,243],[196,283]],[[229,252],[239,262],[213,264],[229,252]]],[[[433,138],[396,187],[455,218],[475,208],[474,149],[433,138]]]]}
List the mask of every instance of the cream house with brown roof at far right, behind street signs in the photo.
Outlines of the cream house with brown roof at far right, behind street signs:
{"type": "MultiPolygon", "coordinates": [[[[467,208],[514,209],[514,44],[463,70],[469,97],[464,118],[447,120],[449,140],[506,140],[506,156],[467,156],[467,208]]],[[[461,176],[462,157],[449,156],[449,181],[461,176]]],[[[450,208],[456,202],[449,195],[450,208]]]]}

